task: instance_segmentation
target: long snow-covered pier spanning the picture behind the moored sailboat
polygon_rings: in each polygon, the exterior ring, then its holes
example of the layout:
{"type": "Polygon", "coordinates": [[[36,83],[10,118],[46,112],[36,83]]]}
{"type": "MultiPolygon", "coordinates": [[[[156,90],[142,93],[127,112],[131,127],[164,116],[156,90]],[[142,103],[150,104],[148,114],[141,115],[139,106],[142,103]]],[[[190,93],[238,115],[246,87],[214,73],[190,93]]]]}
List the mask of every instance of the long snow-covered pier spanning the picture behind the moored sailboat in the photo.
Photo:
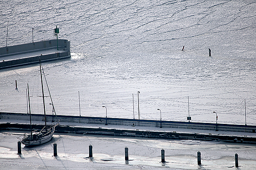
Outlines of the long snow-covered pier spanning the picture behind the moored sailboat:
{"type": "MultiPolygon", "coordinates": [[[[1,124],[0,128],[3,130],[28,130],[30,129],[28,114],[20,113],[3,113],[0,112],[1,124]],[[24,122],[15,123],[13,120],[23,120],[24,122]],[[12,121],[12,122],[8,122],[12,121]]],[[[55,120],[52,115],[47,115],[48,122],[55,120]]],[[[144,137],[144,138],[162,138],[162,139],[193,139],[193,140],[217,140],[225,142],[235,143],[250,143],[256,144],[256,136],[243,135],[241,132],[255,132],[256,126],[249,125],[235,125],[235,124],[214,124],[214,123],[199,123],[199,122],[180,122],[180,121],[162,121],[162,127],[159,127],[160,121],[156,120],[130,120],[130,119],[117,119],[107,118],[109,125],[119,125],[118,128],[111,128],[105,126],[106,118],[99,117],[79,117],[79,116],[58,116],[64,124],[56,127],[56,132],[59,133],[77,133],[77,134],[90,134],[90,135],[108,135],[108,136],[123,136],[123,137],[144,137]],[[76,125],[66,125],[66,123],[77,123],[76,125]],[[85,127],[82,124],[100,124],[102,127],[85,127]],[[212,134],[209,131],[216,131],[216,127],[220,131],[236,131],[240,132],[240,135],[220,135],[212,134]],[[133,127],[122,128],[124,126],[133,127]],[[140,129],[141,126],[155,127],[155,130],[140,129]],[[156,129],[157,127],[157,129],[156,129]],[[167,130],[166,128],[182,128],[182,129],[194,129],[193,132],[176,132],[167,130]],[[197,131],[201,130],[200,133],[197,131]],[[205,130],[205,132],[203,132],[205,130]],[[242,135],[241,135],[242,134],[242,135]]],[[[37,121],[37,125],[33,124],[32,128],[40,129],[43,124],[38,124],[38,121],[44,120],[44,115],[32,114],[32,121],[37,121]]],[[[245,134],[244,133],[244,134],[245,134]]],[[[252,133],[255,134],[255,133],[252,133]]]]}

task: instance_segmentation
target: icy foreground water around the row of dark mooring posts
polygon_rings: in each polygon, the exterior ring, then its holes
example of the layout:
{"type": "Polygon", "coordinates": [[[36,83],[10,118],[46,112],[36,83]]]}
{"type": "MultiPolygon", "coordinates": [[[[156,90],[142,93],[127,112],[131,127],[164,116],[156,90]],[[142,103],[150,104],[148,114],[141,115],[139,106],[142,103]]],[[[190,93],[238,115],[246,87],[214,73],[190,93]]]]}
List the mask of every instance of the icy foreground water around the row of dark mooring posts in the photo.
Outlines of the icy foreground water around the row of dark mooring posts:
{"type": "Polygon", "coordinates": [[[14,131],[0,133],[1,169],[232,170],[235,153],[239,153],[238,169],[256,167],[255,146],[249,144],[55,134],[45,145],[22,146],[22,155],[18,155],[16,137],[20,135],[14,131]],[[57,157],[52,156],[54,142],[58,144],[57,157]],[[89,145],[93,146],[91,159],[89,145]],[[129,161],[125,161],[125,147],[128,147],[129,161]],[[165,163],[161,163],[161,149],[165,150],[165,163]],[[197,165],[197,151],[201,152],[201,166],[197,165]]]}

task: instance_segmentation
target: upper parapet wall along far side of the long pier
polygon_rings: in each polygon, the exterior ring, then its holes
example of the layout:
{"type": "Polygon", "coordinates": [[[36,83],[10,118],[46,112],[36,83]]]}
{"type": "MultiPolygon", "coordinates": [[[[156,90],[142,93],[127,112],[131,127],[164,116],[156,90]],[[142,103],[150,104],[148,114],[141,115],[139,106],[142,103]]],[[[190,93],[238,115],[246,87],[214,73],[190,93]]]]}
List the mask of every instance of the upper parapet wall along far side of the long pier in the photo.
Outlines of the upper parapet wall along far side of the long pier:
{"type": "MultiPolygon", "coordinates": [[[[43,114],[31,114],[32,121],[44,121],[43,114]]],[[[0,112],[0,119],[4,120],[25,120],[29,121],[29,114],[22,113],[6,113],[0,112]]],[[[55,116],[46,115],[46,121],[56,120],[55,116]]],[[[256,132],[256,126],[253,125],[238,125],[238,124],[221,124],[221,123],[201,123],[201,122],[184,122],[184,121],[157,121],[157,120],[136,120],[136,119],[119,119],[119,118],[101,118],[101,117],[80,117],[80,116],[58,116],[61,122],[74,123],[91,123],[91,124],[113,124],[113,125],[128,125],[128,126],[151,126],[151,127],[170,127],[170,128],[185,128],[185,129],[200,129],[200,130],[221,130],[235,132],[256,132]]]]}

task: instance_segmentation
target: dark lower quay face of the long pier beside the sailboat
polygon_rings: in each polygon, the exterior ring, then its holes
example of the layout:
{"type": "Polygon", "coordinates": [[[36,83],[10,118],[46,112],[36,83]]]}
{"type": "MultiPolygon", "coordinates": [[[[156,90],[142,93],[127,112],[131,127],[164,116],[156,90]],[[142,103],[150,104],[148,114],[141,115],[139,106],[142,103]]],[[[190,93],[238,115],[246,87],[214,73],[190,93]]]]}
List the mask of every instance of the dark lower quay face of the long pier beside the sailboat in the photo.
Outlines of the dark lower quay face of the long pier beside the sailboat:
{"type": "MultiPolygon", "coordinates": [[[[1,123],[0,130],[27,130],[30,131],[30,124],[18,123],[1,123]]],[[[42,129],[44,125],[32,124],[32,129],[42,129]]],[[[106,135],[106,136],[122,136],[122,137],[140,137],[140,138],[160,138],[173,140],[201,140],[201,141],[224,141],[233,143],[256,144],[255,137],[247,136],[229,136],[199,133],[177,133],[164,131],[143,131],[143,130],[127,130],[127,129],[108,129],[108,128],[92,128],[77,127],[68,125],[58,125],[55,128],[57,133],[76,133],[83,135],[106,135]]]]}

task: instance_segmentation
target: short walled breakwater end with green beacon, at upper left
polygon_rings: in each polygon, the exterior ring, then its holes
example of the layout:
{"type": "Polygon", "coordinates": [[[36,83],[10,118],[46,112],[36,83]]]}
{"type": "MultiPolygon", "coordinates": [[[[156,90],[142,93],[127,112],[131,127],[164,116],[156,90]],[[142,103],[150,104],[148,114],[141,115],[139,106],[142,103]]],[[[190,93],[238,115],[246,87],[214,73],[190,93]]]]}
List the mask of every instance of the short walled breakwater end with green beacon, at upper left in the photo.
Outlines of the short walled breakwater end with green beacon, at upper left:
{"type": "Polygon", "coordinates": [[[39,63],[39,59],[45,62],[71,57],[70,41],[59,39],[58,49],[59,50],[57,50],[57,40],[47,40],[0,48],[0,69],[39,63]],[[40,54],[40,51],[51,49],[56,49],[56,51],[40,54]],[[37,54],[35,54],[35,52],[37,52],[37,54]],[[24,54],[28,55],[24,57],[24,54]]]}

